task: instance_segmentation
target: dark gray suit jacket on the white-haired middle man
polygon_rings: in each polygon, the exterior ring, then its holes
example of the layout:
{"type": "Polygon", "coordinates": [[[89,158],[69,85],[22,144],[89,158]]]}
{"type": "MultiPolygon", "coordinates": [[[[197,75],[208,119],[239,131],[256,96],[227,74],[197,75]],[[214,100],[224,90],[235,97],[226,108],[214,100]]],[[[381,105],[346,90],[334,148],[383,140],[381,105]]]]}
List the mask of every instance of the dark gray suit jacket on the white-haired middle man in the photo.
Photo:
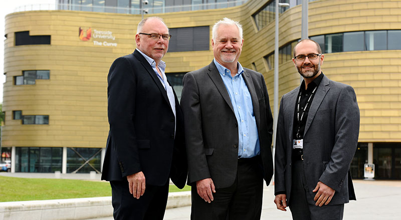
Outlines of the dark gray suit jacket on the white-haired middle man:
{"type": "MultiPolygon", "coordinates": [[[[261,175],[269,184],[273,175],[271,152],[273,118],[263,75],[244,68],[258,126],[261,175]]],[[[217,188],[232,185],[237,174],[238,124],[231,99],[212,61],[183,78],[181,108],[184,114],[188,156],[188,184],[211,177],[217,188]]]]}

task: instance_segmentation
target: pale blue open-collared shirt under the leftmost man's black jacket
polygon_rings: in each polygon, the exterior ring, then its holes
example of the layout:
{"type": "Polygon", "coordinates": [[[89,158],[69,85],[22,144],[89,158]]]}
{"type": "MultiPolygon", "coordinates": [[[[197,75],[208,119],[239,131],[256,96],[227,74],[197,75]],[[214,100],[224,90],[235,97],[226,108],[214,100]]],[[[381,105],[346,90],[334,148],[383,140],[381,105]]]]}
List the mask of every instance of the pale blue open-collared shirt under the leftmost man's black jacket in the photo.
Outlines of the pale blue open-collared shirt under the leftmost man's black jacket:
{"type": "MultiPolygon", "coordinates": [[[[159,67],[159,70],[160,70],[161,74],[163,75],[163,77],[161,77],[159,75],[159,73],[157,72],[157,69],[156,69],[156,61],[154,61],[154,59],[150,58],[145,53],[140,51],[138,48],[136,48],[136,50],[138,50],[138,52],[140,52],[145,57],[145,59],[149,62],[150,66],[152,66],[152,69],[153,69],[154,73],[157,75],[157,77],[159,78],[161,84],[163,85],[164,89],[166,90],[168,101],[170,102],[171,110],[174,113],[174,118],[175,118],[175,123],[176,123],[177,119],[176,119],[176,116],[175,116],[174,92],[172,91],[172,88],[171,88],[170,84],[168,84],[167,77],[166,77],[166,75],[164,73],[164,70],[166,68],[166,63],[163,60],[160,60],[160,62],[159,62],[158,67],[159,67]]],[[[175,126],[174,126],[174,134],[175,134],[175,126]]]]}

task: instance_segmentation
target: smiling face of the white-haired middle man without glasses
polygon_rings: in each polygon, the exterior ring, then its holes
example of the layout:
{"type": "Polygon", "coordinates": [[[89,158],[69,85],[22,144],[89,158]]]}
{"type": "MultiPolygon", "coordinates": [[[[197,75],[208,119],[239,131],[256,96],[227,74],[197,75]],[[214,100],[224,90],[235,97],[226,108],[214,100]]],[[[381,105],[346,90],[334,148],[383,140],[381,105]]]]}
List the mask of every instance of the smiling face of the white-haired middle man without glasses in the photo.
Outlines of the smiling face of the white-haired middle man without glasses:
{"type": "Polygon", "coordinates": [[[237,66],[243,42],[237,25],[221,24],[217,29],[216,40],[212,39],[216,61],[225,67],[237,66]]]}

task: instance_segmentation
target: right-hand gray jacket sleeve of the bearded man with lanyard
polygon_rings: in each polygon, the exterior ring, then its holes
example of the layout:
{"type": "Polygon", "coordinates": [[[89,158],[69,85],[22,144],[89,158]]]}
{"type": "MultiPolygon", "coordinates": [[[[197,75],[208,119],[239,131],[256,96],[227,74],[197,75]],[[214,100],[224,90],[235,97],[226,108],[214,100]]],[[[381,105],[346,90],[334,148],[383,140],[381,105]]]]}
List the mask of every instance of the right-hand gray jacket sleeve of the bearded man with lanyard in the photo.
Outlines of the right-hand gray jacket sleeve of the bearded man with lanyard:
{"type": "Polygon", "coordinates": [[[344,178],[356,151],[359,135],[359,107],[351,86],[339,92],[335,108],[335,139],[330,161],[319,180],[336,191],[341,189],[344,178]]]}

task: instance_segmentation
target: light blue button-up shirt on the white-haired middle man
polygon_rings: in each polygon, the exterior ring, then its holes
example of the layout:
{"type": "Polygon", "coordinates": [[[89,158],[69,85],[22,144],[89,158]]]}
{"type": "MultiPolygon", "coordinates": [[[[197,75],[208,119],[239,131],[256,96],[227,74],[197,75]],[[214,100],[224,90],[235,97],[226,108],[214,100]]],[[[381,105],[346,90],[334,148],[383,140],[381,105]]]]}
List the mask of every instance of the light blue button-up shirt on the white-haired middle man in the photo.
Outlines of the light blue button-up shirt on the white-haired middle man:
{"type": "Polygon", "coordinates": [[[238,122],[238,157],[250,158],[260,154],[258,127],[254,115],[251,93],[243,78],[244,68],[238,62],[238,72],[231,76],[230,69],[213,60],[226,85],[238,122]]]}

